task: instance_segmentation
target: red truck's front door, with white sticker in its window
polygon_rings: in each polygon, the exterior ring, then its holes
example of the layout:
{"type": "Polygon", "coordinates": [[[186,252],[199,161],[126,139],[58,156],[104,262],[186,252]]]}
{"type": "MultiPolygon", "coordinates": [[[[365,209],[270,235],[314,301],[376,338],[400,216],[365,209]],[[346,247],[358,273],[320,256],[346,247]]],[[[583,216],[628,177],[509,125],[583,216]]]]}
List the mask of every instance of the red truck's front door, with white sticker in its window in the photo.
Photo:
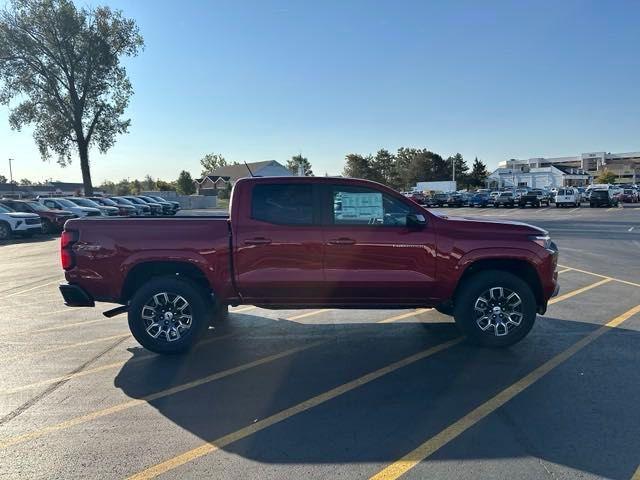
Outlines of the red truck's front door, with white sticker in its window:
{"type": "Polygon", "coordinates": [[[391,192],[350,183],[323,185],[325,290],[345,304],[411,304],[429,298],[435,277],[432,225],[407,226],[407,214],[428,217],[391,192]]]}

